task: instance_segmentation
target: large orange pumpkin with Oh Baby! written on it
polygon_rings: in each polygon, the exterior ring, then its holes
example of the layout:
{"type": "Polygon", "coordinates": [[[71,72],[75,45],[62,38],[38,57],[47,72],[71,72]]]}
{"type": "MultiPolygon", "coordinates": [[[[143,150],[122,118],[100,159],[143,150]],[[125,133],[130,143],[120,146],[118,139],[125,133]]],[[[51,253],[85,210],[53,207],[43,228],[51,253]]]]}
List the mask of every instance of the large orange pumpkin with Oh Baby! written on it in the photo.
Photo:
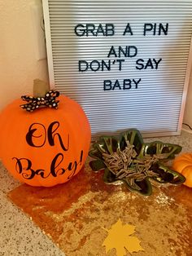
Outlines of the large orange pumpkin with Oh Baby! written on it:
{"type": "Polygon", "coordinates": [[[28,113],[16,99],[0,116],[0,158],[20,182],[51,187],[72,179],[89,152],[89,121],[81,106],[59,96],[59,108],[28,113]]]}

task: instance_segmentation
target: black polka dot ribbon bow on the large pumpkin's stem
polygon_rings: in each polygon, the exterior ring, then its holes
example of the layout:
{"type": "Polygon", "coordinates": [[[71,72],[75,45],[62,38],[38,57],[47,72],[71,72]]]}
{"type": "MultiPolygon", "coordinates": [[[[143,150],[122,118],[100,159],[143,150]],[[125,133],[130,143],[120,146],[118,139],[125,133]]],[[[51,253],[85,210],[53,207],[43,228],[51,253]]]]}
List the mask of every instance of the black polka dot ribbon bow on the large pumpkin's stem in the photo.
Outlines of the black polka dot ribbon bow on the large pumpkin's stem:
{"type": "Polygon", "coordinates": [[[24,95],[21,96],[21,99],[27,101],[27,104],[20,105],[21,108],[24,108],[28,112],[33,112],[37,108],[49,107],[49,108],[58,108],[59,100],[56,100],[56,97],[59,96],[59,91],[50,90],[46,93],[45,97],[33,97],[24,95]]]}

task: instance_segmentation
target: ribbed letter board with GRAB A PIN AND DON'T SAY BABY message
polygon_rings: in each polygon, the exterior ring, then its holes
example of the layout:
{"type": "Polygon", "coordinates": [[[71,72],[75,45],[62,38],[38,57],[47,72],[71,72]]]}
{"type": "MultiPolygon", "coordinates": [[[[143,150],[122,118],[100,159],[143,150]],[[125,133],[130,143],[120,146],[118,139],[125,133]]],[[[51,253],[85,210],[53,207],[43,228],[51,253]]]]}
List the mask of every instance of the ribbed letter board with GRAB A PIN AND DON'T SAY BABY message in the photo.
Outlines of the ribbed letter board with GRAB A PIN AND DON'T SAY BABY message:
{"type": "MultiPolygon", "coordinates": [[[[81,104],[93,135],[137,128],[177,135],[190,77],[192,1],[43,0],[50,84],[81,104]],[[76,24],[114,24],[115,35],[77,37],[76,24]],[[133,36],[123,36],[126,24],[133,36]],[[167,24],[168,34],[143,36],[144,24],[167,24]],[[107,58],[111,46],[136,46],[133,58],[107,58]],[[136,60],[159,60],[138,70],[136,60]],[[78,61],[124,59],[122,70],[79,72],[78,61]],[[103,90],[103,81],[139,79],[137,89],[103,90]]],[[[117,48],[116,48],[117,49],[117,48]]]]}

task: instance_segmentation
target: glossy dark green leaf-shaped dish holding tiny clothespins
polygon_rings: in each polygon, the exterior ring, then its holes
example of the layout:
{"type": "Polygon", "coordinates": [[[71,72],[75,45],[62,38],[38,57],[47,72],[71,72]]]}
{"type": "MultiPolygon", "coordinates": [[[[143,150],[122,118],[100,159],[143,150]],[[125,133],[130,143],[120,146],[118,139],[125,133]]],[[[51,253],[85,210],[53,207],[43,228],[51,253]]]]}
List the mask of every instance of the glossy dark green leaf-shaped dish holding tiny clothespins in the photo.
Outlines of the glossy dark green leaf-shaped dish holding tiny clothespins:
{"type": "Polygon", "coordinates": [[[148,196],[152,192],[151,179],[158,183],[172,183],[175,185],[185,182],[183,175],[170,170],[168,166],[164,165],[166,161],[174,158],[179,152],[181,152],[181,146],[176,144],[162,143],[160,141],[144,143],[140,132],[136,129],[130,129],[119,136],[100,137],[98,142],[93,144],[93,148],[89,152],[89,156],[95,159],[89,162],[89,166],[94,171],[104,170],[103,181],[105,183],[121,181],[125,183],[130,191],[148,196]],[[125,152],[128,142],[129,147],[134,149],[134,157],[131,158],[132,160],[127,168],[129,174],[117,175],[114,173],[112,166],[109,166],[104,160],[103,156],[111,157],[114,153],[125,152]],[[158,156],[158,159],[151,161],[151,159],[156,159],[156,156],[158,156]],[[149,159],[152,164],[145,171],[144,167],[147,166],[149,159]],[[142,169],[140,168],[141,163],[145,164],[142,169]],[[135,174],[137,178],[133,177],[135,174]],[[140,178],[138,178],[139,175],[140,178]]]}

